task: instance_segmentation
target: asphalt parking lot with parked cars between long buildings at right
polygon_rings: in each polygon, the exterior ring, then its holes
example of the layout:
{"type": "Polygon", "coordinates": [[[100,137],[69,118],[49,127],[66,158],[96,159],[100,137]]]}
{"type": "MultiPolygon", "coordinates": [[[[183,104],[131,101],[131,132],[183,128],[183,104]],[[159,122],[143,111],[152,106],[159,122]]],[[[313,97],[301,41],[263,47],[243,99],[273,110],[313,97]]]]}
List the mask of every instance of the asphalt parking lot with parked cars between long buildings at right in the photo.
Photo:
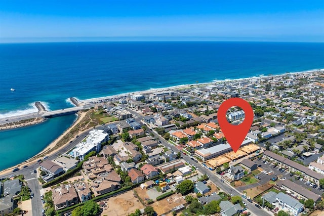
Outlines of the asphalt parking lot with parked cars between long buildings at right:
{"type": "Polygon", "coordinates": [[[296,184],[302,186],[303,188],[307,188],[307,189],[309,189],[310,191],[312,191],[312,192],[314,192],[316,194],[322,195],[322,193],[324,192],[324,189],[320,189],[319,186],[317,186],[316,188],[313,188],[310,185],[306,185],[306,183],[307,183],[306,180],[302,180],[301,181],[301,179],[296,179],[297,176],[292,175],[287,170],[285,170],[283,172],[280,172],[279,171],[280,167],[278,167],[278,166],[273,167],[273,164],[272,163],[269,163],[269,162],[267,164],[263,163],[263,159],[261,159],[261,160],[254,160],[254,162],[256,162],[258,165],[261,164],[261,167],[259,167],[259,168],[262,168],[263,170],[265,170],[267,172],[269,172],[270,170],[272,170],[272,174],[270,174],[270,175],[269,175],[269,173],[268,173],[268,175],[266,175],[263,172],[261,172],[260,174],[258,174],[258,176],[261,178],[261,180],[262,180],[262,178],[266,178],[267,180],[269,180],[269,178],[272,178],[274,176],[277,176],[278,178],[281,177],[280,179],[282,179],[282,180],[295,182],[296,184]],[[320,190],[318,190],[318,189],[320,189],[320,190]]]}

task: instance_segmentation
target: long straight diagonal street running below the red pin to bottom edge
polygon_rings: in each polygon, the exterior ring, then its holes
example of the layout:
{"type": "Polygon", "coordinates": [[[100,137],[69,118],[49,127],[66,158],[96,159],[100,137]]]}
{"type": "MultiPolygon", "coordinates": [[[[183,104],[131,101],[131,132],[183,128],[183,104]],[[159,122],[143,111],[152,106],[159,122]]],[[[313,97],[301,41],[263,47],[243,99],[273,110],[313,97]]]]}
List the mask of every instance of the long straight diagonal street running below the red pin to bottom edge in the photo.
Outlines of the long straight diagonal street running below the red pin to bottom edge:
{"type": "MultiPolygon", "coordinates": [[[[170,147],[172,151],[178,153],[179,150],[172,144],[170,144],[169,142],[167,142],[165,139],[163,139],[161,136],[159,136],[155,131],[153,131],[151,128],[147,128],[148,131],[152,134],[154,134],[155,136],[157,136],[159,138],[159,140],[161,141],[161,144],[164,145],[165,147],[170,147]]],[[[207,174],[209,175],[209,179],[216,184],[220,189],[222,189],[223,191],[225,191],[226,193],[232,193],[234,196],[241,196],[243,194],[241,194],[238,190],[236,190],[235,188],[231,187],[229,184],[227,183],[222,183],[220,181],[220,179],[215,175],[215,171],[211,171],[208,168],[204,168],[201,166],[201,164],[194,162],[193,160],[190,159],[190,156],[188,155],[184,155],[181,154],[181,156],[183,157],[184,160],[189,161],[189,163],[191,165],[195,165],[196,167],[198,167],[198,170],[203,173],[203,174],[207,174]]],[[[244,199],[243,199],[244,200],[244,199]]],[[[255,203],[250,203],[247,200],[244,200],[245,203],[247,204],[247,208],[254,213],[254,215],[272,215],[269,212],[267,212],[264,209],[259,209],[258,207],[255,206],[255,203]]]]}

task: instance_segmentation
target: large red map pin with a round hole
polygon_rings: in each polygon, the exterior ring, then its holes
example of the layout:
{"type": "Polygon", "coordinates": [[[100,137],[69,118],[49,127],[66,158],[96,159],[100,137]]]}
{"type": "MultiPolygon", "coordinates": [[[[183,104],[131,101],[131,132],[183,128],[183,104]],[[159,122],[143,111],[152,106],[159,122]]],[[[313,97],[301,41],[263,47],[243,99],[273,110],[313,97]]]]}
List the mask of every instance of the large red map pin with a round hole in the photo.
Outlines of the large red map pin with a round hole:
{"type": "Polygon", "coordinates": [[[251,105],[241,98],[230,98],[224,101],[218,109],[217,119],[222,132],[233,151],[236,152],[246,138],[253,122],[253,109],[251,105]],[[238,125],[232,125],[227,121],[226,112],[229,108],[237,106],[245,113],[245,119],[238,125]]]}

